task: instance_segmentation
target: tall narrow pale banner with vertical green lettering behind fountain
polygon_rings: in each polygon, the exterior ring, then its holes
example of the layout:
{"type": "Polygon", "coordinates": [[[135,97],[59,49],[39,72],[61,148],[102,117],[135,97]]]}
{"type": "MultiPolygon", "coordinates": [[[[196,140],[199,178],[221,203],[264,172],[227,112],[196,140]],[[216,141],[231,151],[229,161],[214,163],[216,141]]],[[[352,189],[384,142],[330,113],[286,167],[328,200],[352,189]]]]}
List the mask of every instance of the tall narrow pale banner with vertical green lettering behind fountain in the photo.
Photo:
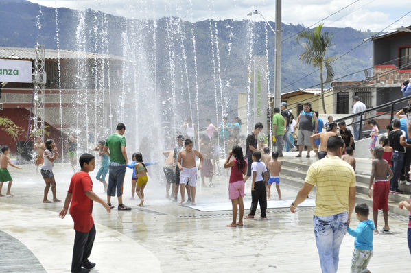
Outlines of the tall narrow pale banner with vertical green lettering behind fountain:
{"type": "Polygon", "coordinates": [[[264,129],[261,132],[261,137],[266,137],[267,132],[270,132],[267,128],[267,56],[256,55],[254,56],[254,124],[250,124],[254,129],[254,125],[257,122],[263,123],[264,129]]]}

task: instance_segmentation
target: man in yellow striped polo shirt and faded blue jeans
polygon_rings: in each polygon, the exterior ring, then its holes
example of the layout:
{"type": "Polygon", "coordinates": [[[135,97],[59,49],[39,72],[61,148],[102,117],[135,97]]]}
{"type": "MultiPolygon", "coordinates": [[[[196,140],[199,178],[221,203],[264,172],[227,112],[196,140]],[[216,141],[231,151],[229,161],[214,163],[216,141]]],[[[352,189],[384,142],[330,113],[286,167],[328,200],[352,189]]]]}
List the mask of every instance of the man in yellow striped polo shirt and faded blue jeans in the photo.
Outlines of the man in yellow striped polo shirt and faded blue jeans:
{"type": "Polygon", "coordinates": [[[355,172],[340,158],[343,150],[340,137],[329,137],[327,156],[309,167],[304,185],[290,206],[295,213],[316,185],[313,224],[322,273],[338,270],[340,246],[355,206],[355,172]]]}

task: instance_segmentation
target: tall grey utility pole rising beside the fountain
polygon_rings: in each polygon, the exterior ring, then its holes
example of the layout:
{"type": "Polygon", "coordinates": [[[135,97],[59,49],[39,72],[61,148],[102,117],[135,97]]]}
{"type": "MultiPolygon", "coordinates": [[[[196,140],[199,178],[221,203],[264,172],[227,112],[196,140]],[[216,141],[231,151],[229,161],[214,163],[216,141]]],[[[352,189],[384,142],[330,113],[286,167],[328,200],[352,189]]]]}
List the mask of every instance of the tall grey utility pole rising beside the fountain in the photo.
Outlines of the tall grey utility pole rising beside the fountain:
{"type": "Polygon", "coordinates": [[[275,3],[274,107],[281,104],[281,0],[275,3]]]}

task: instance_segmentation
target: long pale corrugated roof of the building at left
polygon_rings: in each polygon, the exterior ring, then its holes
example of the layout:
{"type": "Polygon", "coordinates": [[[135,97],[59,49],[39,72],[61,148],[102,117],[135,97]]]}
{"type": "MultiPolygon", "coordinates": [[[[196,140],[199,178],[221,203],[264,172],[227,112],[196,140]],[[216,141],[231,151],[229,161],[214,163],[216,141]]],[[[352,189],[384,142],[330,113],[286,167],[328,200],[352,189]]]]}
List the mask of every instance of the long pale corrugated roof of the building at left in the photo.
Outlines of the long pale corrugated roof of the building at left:
{"type": "MultiPolygon", "coordinates": [[[[34,60],[36,53],[33,48],[23,47],[0,47],[0,59],[14,60],[34,60]]],[[[110,54],[95,54],[82,51],[60,50],[60,59],[116,59],[122,60],[123,57],[110,54]]],[[[45,49],[45,59],[57,60],[58,50],[45,49]]]]}

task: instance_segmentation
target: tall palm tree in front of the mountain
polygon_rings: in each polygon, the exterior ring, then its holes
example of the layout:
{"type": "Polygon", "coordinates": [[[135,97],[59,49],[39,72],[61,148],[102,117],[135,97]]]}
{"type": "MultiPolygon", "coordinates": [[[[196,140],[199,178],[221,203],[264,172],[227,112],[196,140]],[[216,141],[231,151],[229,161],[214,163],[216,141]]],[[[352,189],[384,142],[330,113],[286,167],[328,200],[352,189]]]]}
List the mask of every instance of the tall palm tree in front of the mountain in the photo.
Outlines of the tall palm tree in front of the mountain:
{"type": "Polygon", "coordinates": [[[306,64],[312,64],[313,67],[320,67],[322,110],[324,110],[324,113],[326,114],[322,71],[325,67],[325,71],[327,72],[327,79],[325,82],[330,82],[334,77],[334,70],[333,67],[331,67],[333,57],[325,58],[327,49],[332,44],[332,39],[328,32],[321,33],[323,25],[324,24],[318,25],[318,27],[314,28],[312,31],[299,33],[297,36],[297,43],[300,43],[300,40],[305,38],[305,43],[301,44],[305,51],[300,54],[300,60],[303,60],[306,64]]]}

